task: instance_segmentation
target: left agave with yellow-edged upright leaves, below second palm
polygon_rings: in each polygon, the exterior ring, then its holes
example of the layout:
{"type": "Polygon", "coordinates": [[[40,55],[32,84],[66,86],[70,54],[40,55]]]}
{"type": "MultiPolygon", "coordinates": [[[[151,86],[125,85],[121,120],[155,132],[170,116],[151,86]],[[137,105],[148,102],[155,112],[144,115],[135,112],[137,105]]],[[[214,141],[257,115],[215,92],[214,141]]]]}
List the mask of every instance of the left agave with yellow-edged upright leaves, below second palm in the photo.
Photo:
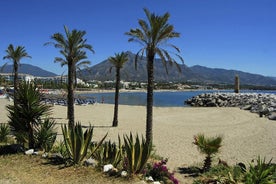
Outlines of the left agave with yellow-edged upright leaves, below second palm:
{"type": "Polygon", "coordinates": [[[87,150],[93,136],[93,128],[89,127],[83,133],[81,123],[79,122],[72,129],[67,129],[66,125],[61,128],[69,158],[73,164],[79,164],[87,155],[87,150]]]}

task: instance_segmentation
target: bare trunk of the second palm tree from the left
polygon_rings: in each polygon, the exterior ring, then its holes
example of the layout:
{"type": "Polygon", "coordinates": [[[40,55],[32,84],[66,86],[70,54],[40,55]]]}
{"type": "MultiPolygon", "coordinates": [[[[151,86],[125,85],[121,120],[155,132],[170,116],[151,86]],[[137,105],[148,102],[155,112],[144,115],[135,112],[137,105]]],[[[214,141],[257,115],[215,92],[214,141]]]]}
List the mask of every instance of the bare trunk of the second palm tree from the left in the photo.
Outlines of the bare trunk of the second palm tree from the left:
{"type": "MultiPolygon", "coordinates": [[[[68,62],[69,63],[69,62],[68,62]]],[[[74,71],[75,65],[68,64],[68,95],[67,95],[67,116],[68,127],[73,128],[75,123],[74,117],[74,71]]]]}

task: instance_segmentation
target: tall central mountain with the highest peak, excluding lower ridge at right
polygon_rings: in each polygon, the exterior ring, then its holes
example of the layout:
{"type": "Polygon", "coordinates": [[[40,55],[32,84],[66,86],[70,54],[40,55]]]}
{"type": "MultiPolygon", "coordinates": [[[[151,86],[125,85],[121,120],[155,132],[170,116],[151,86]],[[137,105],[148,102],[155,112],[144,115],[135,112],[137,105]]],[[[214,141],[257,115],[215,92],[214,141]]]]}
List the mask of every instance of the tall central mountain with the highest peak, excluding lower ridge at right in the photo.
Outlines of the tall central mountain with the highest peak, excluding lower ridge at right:
{"type": "MultiPolygon", "coordinates": [[[[125,81],[139,81],[146,82],[147,81],[147,62],[145,57],[140,57],[137,62],[137,69],[135,69],[135,54],[131,52],[127,52],[128,54],[128,62],[126,62],[121,69],[121,79],[125,81]]],[[[160,59],[157,59],[154,62],[154,78],[157,82],[162,81],[186,81],[187,79],[198,81],[200,80],[200,76],[194,73],[189,69],[186,65],[179,65],[181,68],[181,72],[178,72],[178,69],[175,65],[168,65],[168,74],[166,73],[166,69],[162,64],[160,59]]],[[[111,63],[108,59],[103,62],[90,67],[88,69],[82,70],[79,72],[80,78],[84,78],[86,80],[114,80],[115,78],[115,69],[111,70],[111,63]]]]}

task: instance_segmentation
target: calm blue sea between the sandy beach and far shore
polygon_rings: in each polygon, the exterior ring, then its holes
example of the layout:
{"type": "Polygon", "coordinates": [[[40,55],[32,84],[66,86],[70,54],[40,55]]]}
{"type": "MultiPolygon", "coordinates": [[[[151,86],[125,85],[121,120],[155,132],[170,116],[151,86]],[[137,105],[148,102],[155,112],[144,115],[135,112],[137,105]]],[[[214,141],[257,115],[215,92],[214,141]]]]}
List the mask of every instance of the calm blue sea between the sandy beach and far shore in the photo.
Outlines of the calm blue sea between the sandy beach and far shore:
{"type": "MultiPolygon", "coordinates": [[[[233,90],[196,90],[196,91],[156,91],[153,93],[153,106],[155,107],[188,107],[185,101],[203,93],[232,93],[233,90]]],[[[276,91],[241,90],[241,93],[271,93],[276,91]]],[[[115,92],[82,94],[87,98],[93,98],[97,103],[114,104],[115,92]]],[[[120,92],[119,104],[146,106],[146,92],[120,92]]]]}

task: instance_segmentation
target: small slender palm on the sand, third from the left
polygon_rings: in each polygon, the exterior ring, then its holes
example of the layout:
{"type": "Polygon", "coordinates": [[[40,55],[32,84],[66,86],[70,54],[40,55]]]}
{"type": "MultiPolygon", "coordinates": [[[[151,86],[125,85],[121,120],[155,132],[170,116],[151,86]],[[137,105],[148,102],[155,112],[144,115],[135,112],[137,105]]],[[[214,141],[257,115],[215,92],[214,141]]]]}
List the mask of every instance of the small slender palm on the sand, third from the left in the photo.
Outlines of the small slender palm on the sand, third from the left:
{"type": "MultiPolygon", "coordinates": [[[[118,102],[119,102],[119,88],[120,88],[120,71],[125,62],[128,61],[127,54],[124,52],[121,52],[120,54],[115,54],[115,57],[110,57],[109,61],[112,63],[112,65],[116,68],[116,88],[115,88],[115,105],[114,105],[114,117],[113,117],[113,123],[112,126],[116,127],[118,126],[118,102]]],[[[112,70],[112,67],[110,67],[110,72],[112,70]]]]}

